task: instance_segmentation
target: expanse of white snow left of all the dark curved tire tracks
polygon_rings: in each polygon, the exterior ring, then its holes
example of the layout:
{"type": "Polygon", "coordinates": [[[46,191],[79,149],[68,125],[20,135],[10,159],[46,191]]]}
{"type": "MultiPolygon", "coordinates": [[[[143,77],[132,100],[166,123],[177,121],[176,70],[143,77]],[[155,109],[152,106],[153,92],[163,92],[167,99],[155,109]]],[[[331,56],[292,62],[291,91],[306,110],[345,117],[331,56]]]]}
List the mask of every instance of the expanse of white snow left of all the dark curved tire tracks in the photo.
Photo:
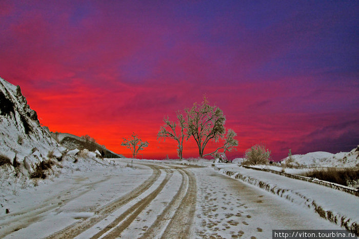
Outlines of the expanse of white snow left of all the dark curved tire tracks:
{"type": "Polygon", "coordinates": [[[9,187],[0,190],[0,237],[18,227],[21,229],[10,237],[49,236],[76,220],[94,216],[94,208],[131,191],[152,173],[148,167],[127,168],[122,163],[113,166],[106,160],[100,163],[91,155],[77,157],[76,163],[68,157],[63,167],[45,180],[1,178],[2,186],[9,187]],[[6,214],[6,209],[10,213],[6,214]]]}

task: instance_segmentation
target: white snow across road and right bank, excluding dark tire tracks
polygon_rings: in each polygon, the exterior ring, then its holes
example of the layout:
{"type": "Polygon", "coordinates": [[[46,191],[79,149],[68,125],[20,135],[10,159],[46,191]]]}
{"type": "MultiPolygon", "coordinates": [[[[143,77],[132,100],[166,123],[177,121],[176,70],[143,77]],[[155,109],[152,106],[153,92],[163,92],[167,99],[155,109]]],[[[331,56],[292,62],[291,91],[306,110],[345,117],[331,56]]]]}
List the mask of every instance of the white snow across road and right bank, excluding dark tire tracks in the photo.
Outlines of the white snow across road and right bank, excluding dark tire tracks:
{"type": "MultiPolygon", "coordinates": [[[[350,222],[358,219],[358,211],[355,208],[357,197],[350,200],[350,196],[340,195],[333,189],[303,184],[305,182],[288,182],[286,178],[281,184],[282,178],[263,176],[263,172],[243,169],[235,164],[216,164],[216,167],[222,168],[222,172],[224,169],[237,170],[244,175],[261,178],[273,187],[275,185],[278,188],[289,187],[291,191],[283,195],[293,198],[293,201],[249,184],[234,186],[232,181],[226,179],[229,177],[221,176],[213,170],[211,161],[182,160],[178,161],[177,165],[171,160],[168,163],[135,159],[99,160],[94,153],[86,150],[79,154],[75,156],[76,163],[73,163],[74,157],[64,156],[63,167],[54,172],[58,174],[51,174],[45,180],[29,180],[32,184],[25,185],[23,188],[19,182],[7,181],[7,183],[11,182],[16,190],[13,193],[7,193],[2,188],[0,192],[0,201],[3,206],[0,208],[0,237],[7,235],[5,238],[28,238],[31,235],[31,237],[42,238],[78,220],[95,218],[98,208],[108,205],[147,180],[152,170],[142,164],[148,163],[164,168],[170,166],[186,168],[187,165],[206,166],[187,169],[194,173],[197,181],[195,217],[189,235],[191,238],[211,235],[228,238],[242,233],[246,238],[250,236],[271,238],[272,229],[293,229],[293,227],[340,229],[340,226],[323,220],[319,215],[307,209],[306,200],[325,205],[324,209],[333,210],[334,208],[340,211],[340,215],[351,218],[350,222]],[[84,155],[87,156],[83,157],[84,155]],[[133,162],[133,168],[129,167],[131,162],[133,162]],[[38,185],[35,186],[35,183],[38,185]],[[5,193],[3,197],[1,197],[2,193],[5,193]],[[317,198],[318,196],[323,198],[317,198]],[[339,198],[344,200],[343,205],[336,205],[339,198]],[[5,214],[6,208],[10,210],[9,214],[5,214]],[[348,212],[348,208],[354,209],[348,212]]],[[[172,171],[173,175],[164,189],[122,232],[122,237],[141,236],[155,222],[156,215],[160,215],[169,205],[181,185],[181,174],[176,170],[172,171]]],[[[161,175],[150,188],[79,234],[77,238],[89,238],[100,229],[107,227],[116,217],[153,192],[163,182],[165,175],[166,173],[161,169],[161,175]]],[[[333,210],[333,213],[337,211],[333,210]]],[[[171,211],[169,217],[164,218],[167,220],[164,225],[169,223],[173,214],[174,211],[171,211]]],[[[156,238],[161,237],[162,233],[158,231],[156,238]]]]}

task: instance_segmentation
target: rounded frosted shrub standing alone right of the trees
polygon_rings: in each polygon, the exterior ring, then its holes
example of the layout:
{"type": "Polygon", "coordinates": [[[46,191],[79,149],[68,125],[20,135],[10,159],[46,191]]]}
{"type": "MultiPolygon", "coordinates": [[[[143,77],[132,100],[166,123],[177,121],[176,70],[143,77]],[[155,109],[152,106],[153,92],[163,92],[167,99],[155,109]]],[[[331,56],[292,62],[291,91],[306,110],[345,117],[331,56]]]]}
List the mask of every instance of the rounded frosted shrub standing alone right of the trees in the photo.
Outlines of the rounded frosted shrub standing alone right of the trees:
{"type": "Polygon", "coordinates": [[[263,144],[257,144],[246,150],[244,165],[268,164],[270,150],[263,144]]]}

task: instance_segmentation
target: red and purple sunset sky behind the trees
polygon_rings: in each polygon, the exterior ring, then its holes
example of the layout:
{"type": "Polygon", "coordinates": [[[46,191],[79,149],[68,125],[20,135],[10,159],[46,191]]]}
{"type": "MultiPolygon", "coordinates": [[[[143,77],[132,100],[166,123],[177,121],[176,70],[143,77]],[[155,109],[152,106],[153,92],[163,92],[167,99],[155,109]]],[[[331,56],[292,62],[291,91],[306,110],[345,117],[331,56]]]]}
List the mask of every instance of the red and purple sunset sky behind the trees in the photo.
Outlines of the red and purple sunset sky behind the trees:
{"type": "MultiPolygon", "coordinates": [[[[164,116],[201,102],[240,144],[274,160],[359,144],[358,4],[263,1],[0,1],[0,77],[51,131],[130,155],[176,157],[164,116]]],[[[206,148],[205,153],[215,145],[206,148]]],[[[197,156],[192,140],[184,156],[197,156]]]]}

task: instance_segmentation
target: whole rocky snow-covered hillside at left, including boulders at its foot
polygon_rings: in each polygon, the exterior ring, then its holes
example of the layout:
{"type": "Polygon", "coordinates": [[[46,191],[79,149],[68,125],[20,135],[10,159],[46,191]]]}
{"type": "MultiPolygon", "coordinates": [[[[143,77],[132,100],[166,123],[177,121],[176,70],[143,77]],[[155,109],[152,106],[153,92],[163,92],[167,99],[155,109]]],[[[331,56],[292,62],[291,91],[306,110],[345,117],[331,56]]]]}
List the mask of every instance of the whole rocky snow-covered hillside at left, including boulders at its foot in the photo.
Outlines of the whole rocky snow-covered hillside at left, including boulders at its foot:
{"type": "MultiPolygon", "coordinates": [[[[76,139],[76,142],[84,141],[81,137],[72,134],[60,133],[57,136],[61,137],[61,140],[71,136],[76,139]]],[[[47,127],[40,125],[37,113],[27,104],[20,87],[0,78],[0,172],[2,188],[8,186],[6,182],[8,178],[11,178],[11,175],[16,178],[10,181],[20,182],[26,181],[26,178],[29,177],[46,177],[46,174],[56,171],[53,167],[59,169],[67,165],[67,167],[73,166],[73,169],[78,168],[76,165],[67,164],[67,161],[70,163],[81,161],[83,158],[76,155],[79,150],[76,147],[69,149],[67,145],[61,145],[58,142],[60,141],[58,139],[56,141],[51,136],[47,127]],[[4,182],[6,186],[3,185],[4,182]]],[[[89,152],[85,150],[83,145],[79,149],[84,151],[83,157],[96,158],[96,155],[101,156],[99,152],[95,155],[88,155],[89,152]]],[[[113,153],[106,148],[103,150],[106,153],[113,153]]]]}

